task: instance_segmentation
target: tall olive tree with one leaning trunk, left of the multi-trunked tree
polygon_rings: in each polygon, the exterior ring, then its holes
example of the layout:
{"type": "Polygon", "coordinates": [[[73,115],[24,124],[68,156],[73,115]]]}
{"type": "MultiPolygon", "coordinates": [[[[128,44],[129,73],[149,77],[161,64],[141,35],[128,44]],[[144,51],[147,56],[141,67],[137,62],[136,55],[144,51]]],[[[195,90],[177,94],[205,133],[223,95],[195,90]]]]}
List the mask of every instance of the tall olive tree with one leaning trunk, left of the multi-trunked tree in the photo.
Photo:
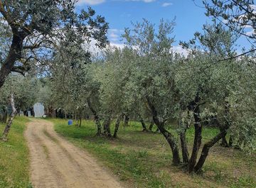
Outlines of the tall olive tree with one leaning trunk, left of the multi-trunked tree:
{"type": "Polygon", "coordinates": [[[171,50],[174,25],[174,21],[162,20],[158,31],[155,31],[154,25],[144,20],[134,24],[132,30],[126,29],[124,38],[127,45],[137,53],[129,81],[132,92],[135,92],[140,104],[145,104],[150,110],[154,123],[171,147],[174,165],[178,165],[180,157],[177,140],[165,128],[165,123],[173,117],[176,107],[174,66],[181,60],[171,50]]]}

